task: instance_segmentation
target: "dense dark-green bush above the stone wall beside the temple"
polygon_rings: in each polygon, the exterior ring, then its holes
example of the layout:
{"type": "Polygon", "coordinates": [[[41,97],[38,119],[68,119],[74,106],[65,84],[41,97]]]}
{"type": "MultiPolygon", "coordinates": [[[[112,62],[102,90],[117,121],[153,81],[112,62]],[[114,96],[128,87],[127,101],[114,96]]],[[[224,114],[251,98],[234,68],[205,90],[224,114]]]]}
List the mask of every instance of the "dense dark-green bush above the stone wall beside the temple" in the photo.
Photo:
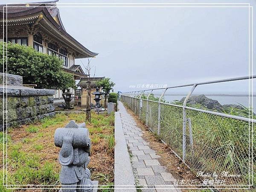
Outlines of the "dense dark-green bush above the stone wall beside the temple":
{"type": "MultiPolygon", "coordinates": [[[[6,43],[0,43],[0,69],[6,72],[6,43]],[[4,44],[4,55],[3,55],[4,44]],[[4,57],[4,61],[3,61],[4,57]]],[[[23,84],[37,84],[41,89],[75,88],[73,76],[62,70],[63,61],[32,47],[7,44],[7,73],[23,76],[23,84]]]]}

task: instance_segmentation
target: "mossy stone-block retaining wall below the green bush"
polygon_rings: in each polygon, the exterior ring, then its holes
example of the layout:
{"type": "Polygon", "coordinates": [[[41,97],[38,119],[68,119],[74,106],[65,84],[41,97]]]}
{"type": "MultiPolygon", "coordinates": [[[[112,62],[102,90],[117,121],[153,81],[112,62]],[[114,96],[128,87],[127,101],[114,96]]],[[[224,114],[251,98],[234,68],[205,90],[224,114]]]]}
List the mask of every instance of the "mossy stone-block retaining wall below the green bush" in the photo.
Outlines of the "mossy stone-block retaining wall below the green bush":
{"type": "MultiPolygon", "coordinates": [[[[0,73],[0,76],[0,79],[2,80],[3,73],[0,73]]],[[[3,130],[3,126],[6,127],[6,123],[7,127],[9,128],[12,125],[22,125],[27,122],[55,115],[53,105],[53,95],[55,93],[54,90],[23,87],[20,86],[20,83],[22,84],[21,76],[13,76],[8,74],[7,77],[7,88],[6,86],[3,86],[3,84],[0,84],[0,131],[3,130]],[[15,82],[16,80],[17,82],[15,82]],[[4,123],[2,123],[3,105],[5,110],[4,123]]]]}

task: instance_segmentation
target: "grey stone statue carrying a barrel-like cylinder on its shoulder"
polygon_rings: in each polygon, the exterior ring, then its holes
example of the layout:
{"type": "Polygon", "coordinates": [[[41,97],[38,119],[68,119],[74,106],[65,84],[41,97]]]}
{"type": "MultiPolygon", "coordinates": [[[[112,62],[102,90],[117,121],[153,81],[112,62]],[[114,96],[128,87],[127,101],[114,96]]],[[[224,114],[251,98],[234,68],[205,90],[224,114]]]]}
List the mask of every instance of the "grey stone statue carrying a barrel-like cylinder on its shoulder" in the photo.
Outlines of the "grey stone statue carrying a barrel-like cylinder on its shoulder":
{"type": "Polygon", "coordinates": [[[76,124],[72,120],[65,128],[56,129],[54,142],[61,148],[60,192],[92,192],[93,181],[87,168],[91,141],[85,123],[76,124]]]}

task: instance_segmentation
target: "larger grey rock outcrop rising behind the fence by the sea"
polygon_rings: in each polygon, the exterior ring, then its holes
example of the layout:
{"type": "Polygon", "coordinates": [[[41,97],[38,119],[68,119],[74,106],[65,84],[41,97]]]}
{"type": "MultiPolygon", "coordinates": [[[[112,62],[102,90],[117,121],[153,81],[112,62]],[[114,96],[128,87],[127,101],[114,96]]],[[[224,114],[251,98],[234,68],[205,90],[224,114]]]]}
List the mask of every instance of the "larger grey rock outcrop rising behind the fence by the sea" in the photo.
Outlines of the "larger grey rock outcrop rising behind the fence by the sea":
{"type": "MultiPolygon", "coordinates": [[[[182,99],[180,99],[180,102],[184,102],[185,98],[186,97],[183,97],[182,99]]],[[[187,104],[191,104],[191,105],[201,104],[208,109],[222,108],[222,105],[217,100],[209,99],[205,95],[190,96],[187,101],[187,104]]]]}

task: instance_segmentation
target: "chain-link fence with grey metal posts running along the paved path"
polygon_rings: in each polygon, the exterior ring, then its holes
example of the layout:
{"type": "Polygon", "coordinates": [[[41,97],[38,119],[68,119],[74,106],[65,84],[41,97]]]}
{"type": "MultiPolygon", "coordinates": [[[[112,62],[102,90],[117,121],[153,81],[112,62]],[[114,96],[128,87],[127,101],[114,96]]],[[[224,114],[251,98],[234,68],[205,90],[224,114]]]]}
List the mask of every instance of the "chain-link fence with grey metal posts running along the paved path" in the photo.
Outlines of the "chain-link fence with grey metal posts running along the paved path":
{"type": "Polygon", "coordinates": [[[161,98],[158,102],[142,99],[143,94],[144,91],[139,96],[124,93],[121,100],[192,171],[210,175],[208,183],[202,181],[201,185],[249,188],[256,183],[256,119],[252,114],[251,118],[232,116],[191,108],[186,101],[180,106],[160,102],[161,98]]]}

